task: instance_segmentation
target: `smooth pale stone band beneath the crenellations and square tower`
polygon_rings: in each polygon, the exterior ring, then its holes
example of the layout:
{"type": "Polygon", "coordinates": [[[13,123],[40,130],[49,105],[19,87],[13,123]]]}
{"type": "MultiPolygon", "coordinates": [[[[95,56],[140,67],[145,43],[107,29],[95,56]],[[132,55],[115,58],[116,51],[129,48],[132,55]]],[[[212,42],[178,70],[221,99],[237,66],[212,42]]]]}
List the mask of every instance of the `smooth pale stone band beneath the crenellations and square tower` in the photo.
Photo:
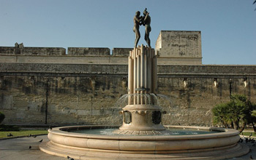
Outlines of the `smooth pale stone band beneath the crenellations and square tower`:
{"type": "MultiPolygon", "coordinates": [[[[132,49],[131,49],[132,50],[132,49]]],[[[72,63],[72,64],[128,64],[130,49],[113,49],[113,55],[7,55],[0,53],[0,63],[72,63]]],[[[198,65],[201,58],[158,57],[159,64],[198,65]]]]}

